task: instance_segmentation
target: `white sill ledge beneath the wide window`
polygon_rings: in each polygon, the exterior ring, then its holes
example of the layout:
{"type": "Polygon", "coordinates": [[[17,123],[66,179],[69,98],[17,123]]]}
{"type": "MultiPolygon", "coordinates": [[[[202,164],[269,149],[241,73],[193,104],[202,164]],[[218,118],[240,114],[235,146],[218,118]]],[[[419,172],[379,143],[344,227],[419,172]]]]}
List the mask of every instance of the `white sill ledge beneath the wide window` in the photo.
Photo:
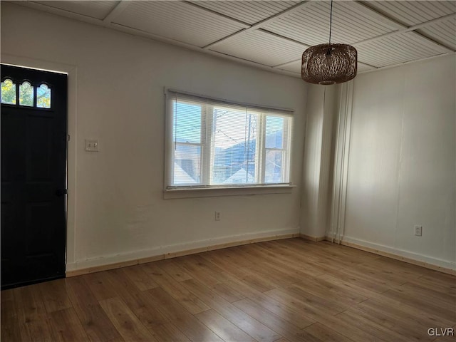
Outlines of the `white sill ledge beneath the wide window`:
{"type": "Polygon", "coordinates": [[[290,194],[296,185],[261,185],[257,187],[192,187],[167,189],[164,199],[290,194]]]}

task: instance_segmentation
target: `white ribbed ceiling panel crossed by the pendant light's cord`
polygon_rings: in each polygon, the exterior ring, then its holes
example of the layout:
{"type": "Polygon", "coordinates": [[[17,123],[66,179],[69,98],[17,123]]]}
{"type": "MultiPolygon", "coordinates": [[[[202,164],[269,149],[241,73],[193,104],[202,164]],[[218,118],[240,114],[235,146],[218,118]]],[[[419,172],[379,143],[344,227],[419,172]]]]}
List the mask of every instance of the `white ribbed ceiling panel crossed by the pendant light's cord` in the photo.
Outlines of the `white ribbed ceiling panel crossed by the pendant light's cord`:
{"type": "MultiPolygon", "coordinates": [[[[328,1],[315,1],[299,11],[267,24],[264,28],[308,45],[326,43],[329,36],[330,9],[328,1]]],[[[361,4],[336,1],[333,4],[331,41],[354,43],[398,29],[398,25],[392,21],[383,21],[372,11],[371,16],[368,16],[366,12],[366,7],[361,4]]]]}

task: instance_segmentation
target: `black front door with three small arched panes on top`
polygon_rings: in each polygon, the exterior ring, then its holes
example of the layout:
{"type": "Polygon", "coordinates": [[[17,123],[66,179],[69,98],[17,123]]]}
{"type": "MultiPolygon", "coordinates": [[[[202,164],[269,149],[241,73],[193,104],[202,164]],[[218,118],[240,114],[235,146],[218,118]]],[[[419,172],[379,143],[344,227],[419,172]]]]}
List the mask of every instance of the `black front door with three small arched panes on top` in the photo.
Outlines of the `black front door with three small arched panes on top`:
{"type": "Polygon", "coordinates": [[[1,65],[1,289],[65,276],[67,76],[1,65]]]}

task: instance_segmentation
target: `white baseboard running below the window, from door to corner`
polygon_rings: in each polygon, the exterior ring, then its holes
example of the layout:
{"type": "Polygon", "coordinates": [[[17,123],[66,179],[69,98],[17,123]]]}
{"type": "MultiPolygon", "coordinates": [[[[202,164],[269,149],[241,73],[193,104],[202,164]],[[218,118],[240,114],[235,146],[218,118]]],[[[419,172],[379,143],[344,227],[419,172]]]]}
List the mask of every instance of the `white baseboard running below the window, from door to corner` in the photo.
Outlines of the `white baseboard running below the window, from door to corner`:
{"type": "Polygon", "coordinates": [[[135,252],[112,254],[103,257],[85,259],[66,264],[66,276],[78,276],[119,267],[133,266],[145,262],[180,257],[188,254],[207,252],[214,249],[241,246],[254,242],[289,239],[299,237],[299,227],[296,229],[281,229],[259,233],[239,234],[230,237],[219,237],[184,244],[154,247],[135,252]]]}

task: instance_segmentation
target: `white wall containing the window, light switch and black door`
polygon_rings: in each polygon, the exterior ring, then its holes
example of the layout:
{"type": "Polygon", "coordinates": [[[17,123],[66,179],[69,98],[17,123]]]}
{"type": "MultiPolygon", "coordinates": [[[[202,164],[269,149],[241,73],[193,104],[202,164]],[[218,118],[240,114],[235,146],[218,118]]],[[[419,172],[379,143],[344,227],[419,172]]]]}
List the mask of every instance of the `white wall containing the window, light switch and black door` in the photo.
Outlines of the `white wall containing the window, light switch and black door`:
{"type": "Polygon", "coordinates": [[[305,83],[1,2],[2,61],[68,71],[67,269],[299,232],[305,83]],[[293,108],[288,194],[163,199],[163,87],[293,108]],[[84,139],[100,152],[85,152],[84,139]],[[222,220],[214,221],[214,211],[222,220]]]}

